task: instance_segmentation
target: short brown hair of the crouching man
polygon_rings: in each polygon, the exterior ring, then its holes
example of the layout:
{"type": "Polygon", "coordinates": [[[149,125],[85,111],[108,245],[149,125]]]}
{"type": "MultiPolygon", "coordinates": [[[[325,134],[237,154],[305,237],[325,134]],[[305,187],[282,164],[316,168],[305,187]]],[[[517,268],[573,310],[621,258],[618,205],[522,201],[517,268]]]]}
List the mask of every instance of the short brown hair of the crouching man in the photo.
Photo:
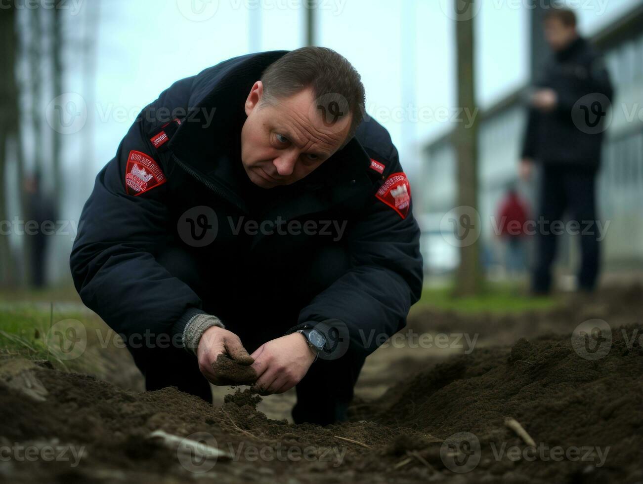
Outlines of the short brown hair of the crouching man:
{"type": "Polygon", "coordinates": [[[260,80],[267,104],[311,87],[312,95],[316,100],[321,98],[323,105],[336,102],[332,112],[342,114],[333,121],[350,112],[349,134],[341,147],[355,135],[363,120],[365,93],[361,76],[345,57],[332,49],[309,46],[290,51],[266,67],[260,80]]]}

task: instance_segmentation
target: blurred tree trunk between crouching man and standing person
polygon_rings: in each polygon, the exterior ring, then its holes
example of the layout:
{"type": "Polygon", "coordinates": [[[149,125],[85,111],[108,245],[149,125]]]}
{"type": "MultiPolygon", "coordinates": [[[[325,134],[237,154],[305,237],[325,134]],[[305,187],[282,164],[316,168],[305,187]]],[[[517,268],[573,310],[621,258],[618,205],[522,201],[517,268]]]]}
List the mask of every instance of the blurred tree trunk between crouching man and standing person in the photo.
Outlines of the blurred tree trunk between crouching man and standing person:
{"type": "MultiPolygon", "coordinates": [[[[467,8],[462,10],[461,0],[454,0],[457,15],[455,21],[458,73],[458,107],[476,111],[475,98],[475,59],[474,59],[474,22],[473,8],[476,0],[465,0],[467,8]],[[458,5],[459,3],[459,5],[458,5]]],[[[478,0],[479,1],[479,0],[478,0]]],[[[478,122],[470,127],[458,123],[454,134],[457,154],[457,184],[458,206],[465,207],[458,214],[460,224],[469,224],[468,228],[480,233],[480,220],[471,219],[477,213],[478,206],[478,122]],[[472,210],[475,209],[475,210],[472,210]],[[464,218],[466,217],[466,218],[464,218]],[[474,226],[471,226],[474,224],[474,226]]],[[[476,238],[477,239],[477,238],[476,238]]],[[[466,296],[478,294],[482,289],[482,271],[480,268],[479,246],[476,240],[473,244],[463,243],[460,246],[460,265],[456,274],[455,294],[466,296]]]]}

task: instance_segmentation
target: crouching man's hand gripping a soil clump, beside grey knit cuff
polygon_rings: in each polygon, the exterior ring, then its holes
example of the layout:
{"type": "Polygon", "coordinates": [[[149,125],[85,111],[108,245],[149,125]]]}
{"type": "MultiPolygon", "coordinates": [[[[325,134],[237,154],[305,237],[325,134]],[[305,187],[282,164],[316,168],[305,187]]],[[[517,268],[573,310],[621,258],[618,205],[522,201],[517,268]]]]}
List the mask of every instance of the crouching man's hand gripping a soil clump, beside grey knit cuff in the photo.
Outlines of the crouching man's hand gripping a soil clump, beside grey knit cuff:
{"type": "Polygon", "coordinates": [[[212,368],[212,363],[217,361],[220,354],[226,354],[236,363],[246,366],[254,361],[241,344],[239,336],[218,326],[206,329],[197,346],[197,359],[203,376],[215,385],[226,384],[212,368]]]}

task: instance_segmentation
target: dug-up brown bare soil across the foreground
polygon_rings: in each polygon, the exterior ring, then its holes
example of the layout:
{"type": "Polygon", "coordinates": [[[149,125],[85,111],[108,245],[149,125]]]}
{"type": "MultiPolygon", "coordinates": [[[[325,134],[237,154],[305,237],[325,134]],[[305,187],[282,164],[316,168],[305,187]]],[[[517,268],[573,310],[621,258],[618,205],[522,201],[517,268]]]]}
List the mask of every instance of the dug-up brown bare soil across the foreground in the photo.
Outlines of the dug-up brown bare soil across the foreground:
{"type": "MultiPolygon", "coordinates": [[[[406,343],[377,350],[358,382],[350,422],[328,427],[289,422],[292,392],[262,399],[248,390],[217,387],[211,406],[176,388],[137,391],[140,382],[129,376],[122,384],[114,377],[116,386],[47,364],[13,364],[12,373],[0,378],[0,447],[84,451],[76,466],[69,460],[2,459],[0,479],[640,482],[642,315],[640,286],[574,298],[543,313],[414,310],[408,328],[447,334],[451,344],[441,347],[434,339],[432,346],[414,346],[400,339],[406,343]],[[598,335],[611,337],[608,352],[599,357],[583,357],[582,348],[572,344],[578,341],[574,328],[589,319],[610,327],[609,334],[598,335]],[[453,343],[458,334],[475,339],[475,345],[464,337],[453,343]],[[34,378],[46,389],[41,398],[20,388],[24,381],[39,390],[34,378]],[[508,418],[520,423],[534,446],[507,426],[508,418]],[[157,430],[228,455],[214,460],[168,447],[150,438],[157,430]]],[[[239,373],[231,378],[239,382],[239,373]]]]}

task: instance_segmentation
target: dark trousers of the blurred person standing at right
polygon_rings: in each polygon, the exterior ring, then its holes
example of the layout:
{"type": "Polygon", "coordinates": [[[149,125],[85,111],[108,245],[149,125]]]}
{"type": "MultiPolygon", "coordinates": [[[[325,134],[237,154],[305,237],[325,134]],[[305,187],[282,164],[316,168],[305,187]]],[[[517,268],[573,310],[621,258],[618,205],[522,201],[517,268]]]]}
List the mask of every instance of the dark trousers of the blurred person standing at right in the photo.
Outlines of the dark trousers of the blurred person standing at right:
{"type": "Polygon", "coordinates": [[[537,222],[538,241],[536,244],[536,266],[532,289],[534,292],[547,293],[551,289],[551,269],[556,257],[559,240],[558,225],[565,211],[569,220],[578,222],[581,242],[581,266],[579,267],[579,289],[592,291],[599,273],[599,238],[601,233],[596,223],[595,181],[597,170],[579,166],[543,165],[540,184],[540,213],[537,222]],[[539,221],[543,223],[540,224],[539,221]]]}

